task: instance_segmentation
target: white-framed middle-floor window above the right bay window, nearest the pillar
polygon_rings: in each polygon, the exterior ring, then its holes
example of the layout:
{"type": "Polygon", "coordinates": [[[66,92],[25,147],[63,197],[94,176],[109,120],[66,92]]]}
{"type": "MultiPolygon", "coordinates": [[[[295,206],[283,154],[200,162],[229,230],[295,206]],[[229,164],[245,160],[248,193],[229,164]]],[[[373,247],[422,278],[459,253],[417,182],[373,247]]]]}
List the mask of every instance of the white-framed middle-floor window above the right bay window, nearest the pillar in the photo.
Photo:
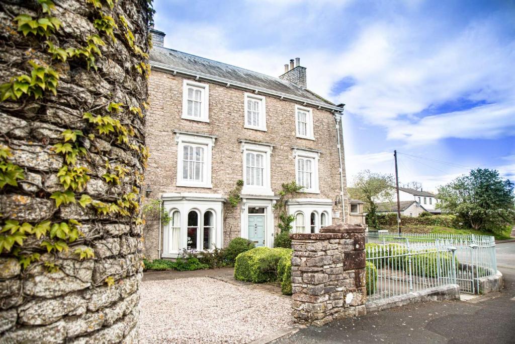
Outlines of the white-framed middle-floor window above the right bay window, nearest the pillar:
{"type": "Polygon", "coordinates": [[[302,192],[319,193],[318,159],[320,153],[294,148],[295,180],[304,187],[302,192]]]}

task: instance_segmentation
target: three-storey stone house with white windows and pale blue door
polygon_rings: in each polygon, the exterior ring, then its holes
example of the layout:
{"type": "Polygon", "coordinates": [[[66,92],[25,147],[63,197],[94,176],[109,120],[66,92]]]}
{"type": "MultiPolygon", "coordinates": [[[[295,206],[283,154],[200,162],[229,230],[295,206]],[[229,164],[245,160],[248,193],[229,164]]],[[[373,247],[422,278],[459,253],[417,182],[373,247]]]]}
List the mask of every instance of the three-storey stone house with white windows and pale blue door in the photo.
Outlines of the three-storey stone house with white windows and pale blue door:
{"type": "Polygon", "coordinates": [[[151,33],[145,183],[170,222],[147,221],[147,257],[222,248],[235,237],[273,247],[274,205],[291,181],[304,187],[287,202],[295,232],[347,222],[343,105],[306,88],[300,59],[271,77],[165,48],[165,34],[151,33]]]}

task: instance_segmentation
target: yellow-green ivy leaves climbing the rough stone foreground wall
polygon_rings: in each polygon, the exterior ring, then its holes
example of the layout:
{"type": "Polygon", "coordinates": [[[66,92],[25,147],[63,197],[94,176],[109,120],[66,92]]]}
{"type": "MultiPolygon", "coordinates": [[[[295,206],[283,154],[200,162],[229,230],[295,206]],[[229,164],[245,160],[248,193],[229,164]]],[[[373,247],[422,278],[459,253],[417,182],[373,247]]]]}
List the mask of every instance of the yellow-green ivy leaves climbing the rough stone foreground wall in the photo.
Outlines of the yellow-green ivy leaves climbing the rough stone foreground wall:
{"type": "MultiPolygon", "coordinates": [[[[97,58],[102,57],[101,47],[107,44],[115,44],[116,37],[123,39],[123,44],[130,47],[134,55],[138,56],[138,62],[133,64],[133,69],[148,78],[150,66],[146,62],[148,54],[136,44],[133,32],[129,29],[127,20],[121,15],[118,17],[123,32],[119,30],[116,20],[102,10],[107,5],[113,9],[116,0],[85,0],[95,10],[92,18],[93,27],[97,34],[89,35],[83,44],[76,46],[59,45],[59,35],[62,22],[52,16],[55,4],[51,0],[38,0],[39,9],[36,17],[29,14],[20,14],[13,19],[16,30],[24,37],[42,38],[41,46],[50,56],[49,61],[42,58],[32,58],[27,61],[29,73],[12,76],[8,82],[0,85],[0,101],[40,100],[50,92],[54,96],[58,94],[58,86],[63,71],[59,63],[73,60],[74,63],[83,64],[86,70],[98,71],[97,58]],[[102,39],[104,37],[104,39],[102,39]],[[107,42],[107,43],[106,43],[107,42]],[[142,60],[143,59],[143,60],[142,60]],[[57,67],[53,63],[57,62],[57,67]]],[[[148,1],[147,14],[153,14],[151,0],[148,1]]],[[[150,17],[147,17],[151,20],[150,17]]],[[[113,97],[112,93],[104,95],[113,97]]],[[[91,152],[89,147],[96,138],[101,138],[112,145],[125,147],[138,155],[139,162],[146,166],[148,149],[136,137],[134,123],[124,122],[126,114],[137,114],[144,118],[146,104],[128,106],[114,99],[108,100],[105,106],[93,106],[82,114],[82,129],[65,129],[61,133],[59,142],[52,145],[52,151],[62,157],[62,165],[57,171],[57,180],[60,190],[52,192],[47,197],[54,200],[56,209],[63,206],[78,204],[84,210],[96,211],[97,214],[111,217],[124,217],[130,219],[134,225],[142,224],[139,217],[140,199],[139,191],[143,182],[143,175],[138,171],[133,174],[131,192],[125,192],[111,199],[94,199],[84,190],[92,178],[91,152]]],[[[76,123],[73,123],[74,126],[76,123]]],[[[75,126],[76,127],[76,126],[75,126]]],[[[25,180],[25,171],[12,162],[12,150],[8,146],[0,145],[0,190],[4,188],[19,188],[19,182],[25,180]]],[[[98,167],[95,167],[98,168],[98,167]]],[[[122,180],[128,177],[129,169],[123,164],[113,163],[105,157],[105,173],[102,180],[110,188],[119,187],[122,180]]],[[[132,179],[130,179],[132,180],[132,179]]],[[[123,189],[121,189],[123,190],[123,189]]],[[[23,193],[23,190],[19,190],[23,193]]],[[[1,217],[5,215],[0,214],[1,217]]],[[[58,253],[68,251],[75,246],[73,253],[79,260],[94,258],[94,251],[88,247],[88,240],[80,231],[81,223],[75,219],[55,221],[44,220],[37,223],[19,222],[15,219],[0,220],[0,254],[9,254],[18,258],[23,269],[30,267],[35,261],[39,261],[41,254],[58,253]],[[39,250],[33,247],[25,247],[25,241],[33,236],[39,240],[39,250]]],[[[33,242],[33,241],[31,241],[33,242]]],[[[60,267],[52,262],[45,261],[43,265],[49,272],[59,271],[60,267]]],[[[108,285],[114,284],[112,276],[107,276],[108,285]]]]}

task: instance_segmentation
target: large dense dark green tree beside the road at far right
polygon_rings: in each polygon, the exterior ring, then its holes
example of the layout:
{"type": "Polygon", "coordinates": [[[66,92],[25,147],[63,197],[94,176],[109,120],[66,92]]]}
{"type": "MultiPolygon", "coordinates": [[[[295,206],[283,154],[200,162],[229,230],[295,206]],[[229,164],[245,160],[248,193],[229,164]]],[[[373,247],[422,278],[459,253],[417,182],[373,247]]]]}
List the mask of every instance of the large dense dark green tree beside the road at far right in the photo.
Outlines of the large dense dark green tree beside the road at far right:
{"type": "Polygon", "coordinates": [[[477,169],[438,189],[437,205],[454,212],[474,230],[494,231],[515,218],[513,183],[499,172],[477,169]]]}

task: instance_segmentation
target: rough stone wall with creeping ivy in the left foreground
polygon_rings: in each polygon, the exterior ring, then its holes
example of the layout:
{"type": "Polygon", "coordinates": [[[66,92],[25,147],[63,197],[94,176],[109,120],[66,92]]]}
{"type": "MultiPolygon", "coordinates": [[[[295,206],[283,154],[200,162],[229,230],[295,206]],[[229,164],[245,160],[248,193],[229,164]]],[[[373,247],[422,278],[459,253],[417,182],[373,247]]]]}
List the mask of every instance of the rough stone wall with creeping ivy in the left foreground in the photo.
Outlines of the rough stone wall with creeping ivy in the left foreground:
{"type": "Polygon", "coordinates": [[[0,343],[138,340],[151,16],[0,2],[0,343]]]}

